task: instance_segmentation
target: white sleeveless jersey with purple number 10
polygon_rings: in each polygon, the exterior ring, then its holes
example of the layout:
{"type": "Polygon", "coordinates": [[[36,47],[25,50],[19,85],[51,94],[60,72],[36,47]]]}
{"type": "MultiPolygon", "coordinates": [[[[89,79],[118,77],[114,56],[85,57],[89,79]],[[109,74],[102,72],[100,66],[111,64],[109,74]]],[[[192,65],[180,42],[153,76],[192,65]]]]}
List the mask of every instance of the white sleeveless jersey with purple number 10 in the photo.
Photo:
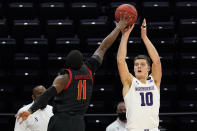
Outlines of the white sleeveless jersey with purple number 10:
{"type": "Polygon", "coordinates": [[[133,77],[124,101],[129,131],[158,128],[160,92],[152,77],[146,81],[146,84],[133,77]]]}

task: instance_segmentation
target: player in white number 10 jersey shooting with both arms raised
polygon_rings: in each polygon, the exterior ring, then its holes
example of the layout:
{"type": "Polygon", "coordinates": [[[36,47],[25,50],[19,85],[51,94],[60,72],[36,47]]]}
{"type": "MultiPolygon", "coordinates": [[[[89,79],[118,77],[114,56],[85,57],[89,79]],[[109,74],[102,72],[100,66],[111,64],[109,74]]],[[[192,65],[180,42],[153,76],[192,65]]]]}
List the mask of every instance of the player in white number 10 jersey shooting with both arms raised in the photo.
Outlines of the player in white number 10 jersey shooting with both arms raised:
{"type": "Polygon", "coordinates": [[[150,58],[138,55],[134,59],[133,76],[125,61],[127,41],[134,25],[122,31],[122,38],[117,54],[120,79],[123,84],[123,97],[126,105],[127,128],[129,131],[159,131],[160,82],[162,69],[157,50],[147,37],[146,20],[141,26],[141,38],[150,58]],[[152,73],[149,75],[149,71],[152,73]]]}

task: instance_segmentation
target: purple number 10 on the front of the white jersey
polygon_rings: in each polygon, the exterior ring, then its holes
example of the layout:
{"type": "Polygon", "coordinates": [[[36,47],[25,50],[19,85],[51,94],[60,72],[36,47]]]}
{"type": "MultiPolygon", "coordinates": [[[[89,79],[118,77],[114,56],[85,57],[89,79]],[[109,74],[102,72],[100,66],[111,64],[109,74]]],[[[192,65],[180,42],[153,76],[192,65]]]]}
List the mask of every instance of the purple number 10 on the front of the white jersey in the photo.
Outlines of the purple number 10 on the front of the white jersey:
{"type": "Polygon", "coordinates": [[[140,93],[140,96],[141,96],[141,106],[153,105],[153,93],[152,92],[140,93]]]}

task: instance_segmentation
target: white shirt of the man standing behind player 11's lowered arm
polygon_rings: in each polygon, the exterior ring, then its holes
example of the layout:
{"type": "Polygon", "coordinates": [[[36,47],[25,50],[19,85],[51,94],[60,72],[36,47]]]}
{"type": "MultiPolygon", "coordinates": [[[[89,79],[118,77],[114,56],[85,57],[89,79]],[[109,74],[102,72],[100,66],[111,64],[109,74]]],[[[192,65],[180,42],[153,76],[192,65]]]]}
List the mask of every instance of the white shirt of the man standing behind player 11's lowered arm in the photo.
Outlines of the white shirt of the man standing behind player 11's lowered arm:
{"type": "MultiPolygon", "coordinates": [[[[18,113],[27,111],[32,104],[22,107],[18,113]]],[[[31,114],[22,124],[19,124],[22,119],[16,120],[14,131],[47,131],[51,116],[53,116],[52,106],[47,105],[45,109],[37,110],[31,114]]]]}

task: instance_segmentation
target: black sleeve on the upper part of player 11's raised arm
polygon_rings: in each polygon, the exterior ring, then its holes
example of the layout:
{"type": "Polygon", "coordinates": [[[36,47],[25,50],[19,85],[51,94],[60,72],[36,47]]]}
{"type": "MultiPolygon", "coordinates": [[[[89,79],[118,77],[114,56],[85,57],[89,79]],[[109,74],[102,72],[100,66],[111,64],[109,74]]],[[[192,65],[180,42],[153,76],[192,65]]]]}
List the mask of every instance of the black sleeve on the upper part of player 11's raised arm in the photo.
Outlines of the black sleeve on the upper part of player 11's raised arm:
{"type": "Polygon", "coordinates": [[[102,64],[102,60],[99,56],[93,55],[86,61],[87,66],[92,72],[95,72],[102,64]]]}

